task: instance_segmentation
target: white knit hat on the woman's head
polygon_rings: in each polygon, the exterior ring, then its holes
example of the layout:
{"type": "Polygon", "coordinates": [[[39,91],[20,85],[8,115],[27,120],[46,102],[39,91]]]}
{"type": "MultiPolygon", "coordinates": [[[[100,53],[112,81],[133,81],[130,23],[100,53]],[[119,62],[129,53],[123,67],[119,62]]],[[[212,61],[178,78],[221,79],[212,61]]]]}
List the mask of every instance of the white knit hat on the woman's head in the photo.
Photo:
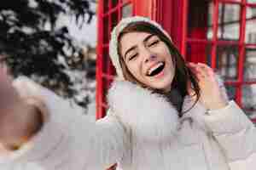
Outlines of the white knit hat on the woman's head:
{"type": "Polygon", "coordinates": [[[117,75],[119,79],[125,80],[121,65],[119,63],[119,54],[118,54],[118,37],[119,33],[125,29],[126,26],[130,25],[131,23],[135,22],[147,22],[155,27],[157,27],[160,31],[162,31],[166,37],[169,37],[172,41],[169,34],[160,26],[158,23],[156,23],[154,20],[149,20],[148,18],[142,17],[142,16],[133,16],[128,17],[123,20],[119,21],[119,24],[113,28],[113,31],[111,32],[111,39],[109,42],[109,56],[112,60],[112,64],[115,67],[115,70],[117,72],[117,75]]]}

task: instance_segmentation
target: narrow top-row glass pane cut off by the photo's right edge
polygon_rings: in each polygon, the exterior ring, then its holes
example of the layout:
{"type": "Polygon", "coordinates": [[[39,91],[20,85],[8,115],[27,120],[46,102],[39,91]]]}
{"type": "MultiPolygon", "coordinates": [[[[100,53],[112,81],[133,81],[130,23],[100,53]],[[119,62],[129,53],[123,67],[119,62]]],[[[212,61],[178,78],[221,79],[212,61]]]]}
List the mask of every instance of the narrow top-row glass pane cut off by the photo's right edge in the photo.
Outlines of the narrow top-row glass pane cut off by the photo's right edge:
{"type": "Polygon", "coordinates": [[[256,43],[256,8],[247,7],[246,42],[256,43]]]}

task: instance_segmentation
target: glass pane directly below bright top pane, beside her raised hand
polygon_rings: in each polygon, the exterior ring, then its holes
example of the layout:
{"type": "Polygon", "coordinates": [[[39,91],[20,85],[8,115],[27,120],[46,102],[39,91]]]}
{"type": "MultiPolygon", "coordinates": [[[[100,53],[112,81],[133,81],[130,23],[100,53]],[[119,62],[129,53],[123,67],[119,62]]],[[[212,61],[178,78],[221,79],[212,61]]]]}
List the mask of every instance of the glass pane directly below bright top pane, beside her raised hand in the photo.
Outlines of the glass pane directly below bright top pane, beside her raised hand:
{"type": "Polygon", "coordinates": [[[218,46],[216,59],[218,74],[226,81],[236,81],[238,71],[238,47],[218,46]]]}

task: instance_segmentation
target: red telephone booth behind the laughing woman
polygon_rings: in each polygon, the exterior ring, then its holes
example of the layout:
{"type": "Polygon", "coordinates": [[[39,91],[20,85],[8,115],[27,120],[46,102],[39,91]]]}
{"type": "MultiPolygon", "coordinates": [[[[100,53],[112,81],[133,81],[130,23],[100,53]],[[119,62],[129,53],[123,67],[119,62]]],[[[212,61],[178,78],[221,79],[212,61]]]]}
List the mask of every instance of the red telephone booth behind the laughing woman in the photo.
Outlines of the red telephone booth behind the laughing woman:
{"type": "Polygon", "coordinates": [[[212,66],[230,99],[248,116],[256,115],[256,0],[99,0],[97,118],[108,109],[105,94],[115,74],[108,57],[110,32],[132,15],[159,22],[186,60],[212,66]]]}

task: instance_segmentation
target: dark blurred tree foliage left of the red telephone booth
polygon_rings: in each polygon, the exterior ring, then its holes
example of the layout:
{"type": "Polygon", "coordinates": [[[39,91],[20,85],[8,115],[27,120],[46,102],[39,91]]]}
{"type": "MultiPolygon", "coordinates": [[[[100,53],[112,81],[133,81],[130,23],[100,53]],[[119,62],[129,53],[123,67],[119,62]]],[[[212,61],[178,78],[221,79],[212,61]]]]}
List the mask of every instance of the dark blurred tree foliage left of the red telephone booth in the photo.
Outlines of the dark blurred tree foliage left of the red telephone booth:
{"type": "Polygon", "coordinates": [[[44,83],[61,95],[75,91],[64,68],[84,69],[80,48],[67,27],[56,28],[60,14],[75,16],[77,24],[90,22],[89,0],[7,0],[0,3],[0,55],[14,76],[45,77],[44,83]],[[63,57],[65,63],[59,62],[63,57]],[[82,65],[82,66],[81,66],[82,65]]]}

